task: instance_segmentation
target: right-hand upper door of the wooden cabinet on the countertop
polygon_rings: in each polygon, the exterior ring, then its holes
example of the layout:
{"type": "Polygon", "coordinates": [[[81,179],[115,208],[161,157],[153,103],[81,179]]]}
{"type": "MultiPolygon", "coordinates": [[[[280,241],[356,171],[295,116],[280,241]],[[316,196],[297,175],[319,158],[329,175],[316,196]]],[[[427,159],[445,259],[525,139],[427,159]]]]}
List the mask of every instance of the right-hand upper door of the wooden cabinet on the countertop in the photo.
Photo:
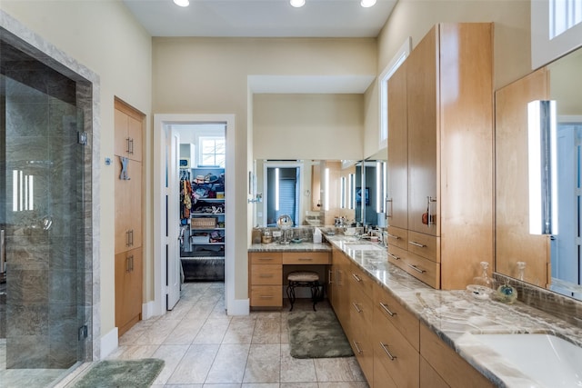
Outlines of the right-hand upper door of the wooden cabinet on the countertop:
{"type": "Polygon", "coordinates": [[[406,59],[408,229],[437,235],[438,30],[433,27],[406,59]],[[430,209],[428,209],[430,207],[430,209]],[[433,214],[423,223],[423,214],[433,214]]]}

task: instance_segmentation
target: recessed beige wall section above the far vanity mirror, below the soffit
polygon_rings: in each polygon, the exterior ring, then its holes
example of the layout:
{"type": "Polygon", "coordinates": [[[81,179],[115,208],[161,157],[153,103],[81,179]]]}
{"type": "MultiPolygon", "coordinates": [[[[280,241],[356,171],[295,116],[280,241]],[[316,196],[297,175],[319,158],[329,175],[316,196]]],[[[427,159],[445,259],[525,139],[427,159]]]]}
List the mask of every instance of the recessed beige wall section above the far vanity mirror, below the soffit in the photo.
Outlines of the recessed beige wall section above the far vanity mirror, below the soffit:
{"type": "Polygon", "coordinates": [[[363,95],[255,95],[253,104],[256,159],[362,159],[363,95]]]}

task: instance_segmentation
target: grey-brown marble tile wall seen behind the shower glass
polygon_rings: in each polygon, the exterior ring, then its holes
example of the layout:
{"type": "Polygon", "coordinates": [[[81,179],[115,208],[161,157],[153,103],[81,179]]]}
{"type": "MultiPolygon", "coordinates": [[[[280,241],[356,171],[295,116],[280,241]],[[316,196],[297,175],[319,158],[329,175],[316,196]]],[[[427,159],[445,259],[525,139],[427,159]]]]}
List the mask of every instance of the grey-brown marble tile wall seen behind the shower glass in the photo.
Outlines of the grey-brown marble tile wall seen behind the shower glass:
{"type": "MultiPolygon", "coordinates": [[[[8,174],[23,171],[35,182],[34,210],[14,212],[6,204],[6,368],[68,368],[78,358],[85,285],[78,278],[85,257],[83,150],[77,144],[83,117],[74,105],[75,83],[38,68],[7,75],[8,174]],[[27,85],[15,81],[21,77],[27,85]]],[[[8,179],[7,193],[12,185],[8,179]]]]}

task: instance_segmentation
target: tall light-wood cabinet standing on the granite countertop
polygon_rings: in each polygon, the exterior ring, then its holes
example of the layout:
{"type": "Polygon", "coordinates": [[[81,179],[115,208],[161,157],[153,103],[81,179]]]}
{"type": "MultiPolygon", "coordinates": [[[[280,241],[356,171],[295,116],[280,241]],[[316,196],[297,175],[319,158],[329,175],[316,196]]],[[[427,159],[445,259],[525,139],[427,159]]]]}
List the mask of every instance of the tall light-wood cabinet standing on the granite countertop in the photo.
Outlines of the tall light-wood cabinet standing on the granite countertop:
{"type": "Polygon", "coordinates": [[[388,260],[435,288],[493,263],[492,55],[491,24],[439,24],[388,83],[388,260]]]}

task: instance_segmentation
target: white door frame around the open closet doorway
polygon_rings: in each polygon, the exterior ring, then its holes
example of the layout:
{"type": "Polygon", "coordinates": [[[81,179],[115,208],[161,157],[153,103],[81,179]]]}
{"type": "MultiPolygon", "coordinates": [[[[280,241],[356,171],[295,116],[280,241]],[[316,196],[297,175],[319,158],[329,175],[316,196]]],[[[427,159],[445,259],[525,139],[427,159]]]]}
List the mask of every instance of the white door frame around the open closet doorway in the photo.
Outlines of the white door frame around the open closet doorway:
{"type": "MultiPolygon", "coordinates": [[[[166,131],[171,124],[226,124],[225,302],[235,305],[235,114],[154,114],[154,306],[152,315],[166,313],[166,131]]],[[[177,227],[178,225],[176,225],[177,227]]]]}

